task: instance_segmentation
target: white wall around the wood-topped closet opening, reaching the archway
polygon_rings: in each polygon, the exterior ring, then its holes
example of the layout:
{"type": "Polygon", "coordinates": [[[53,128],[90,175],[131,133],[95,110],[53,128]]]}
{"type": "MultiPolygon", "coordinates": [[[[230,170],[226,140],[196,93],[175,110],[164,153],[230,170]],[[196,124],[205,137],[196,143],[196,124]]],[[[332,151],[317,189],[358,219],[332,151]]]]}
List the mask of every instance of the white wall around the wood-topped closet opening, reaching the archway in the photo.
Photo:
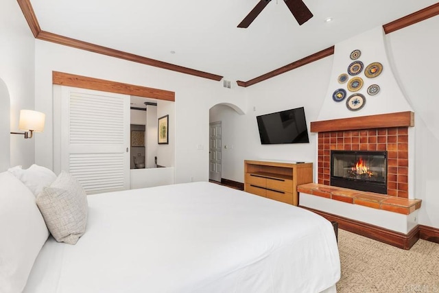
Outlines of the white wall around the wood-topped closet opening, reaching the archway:
{"type": "Polygon", "coordinates": [[[36,163],[46,167],[53,165],[52,71],[174,91],[175,119],[169,120],[169,132],[175,131],[175,141],[169,143],[175,144],[176,183],[189,182],[191,177],[194,180],[209,180],[209,108],[221,102],[246,108],[244,89],[224,89],[222,82],[42,40],[36,40],[35,58],[35,104],[38,110],[47,114],[45,132],[36,136],[36,163]],[[205,147],[198,150],[197,145],[205,147]]]}

